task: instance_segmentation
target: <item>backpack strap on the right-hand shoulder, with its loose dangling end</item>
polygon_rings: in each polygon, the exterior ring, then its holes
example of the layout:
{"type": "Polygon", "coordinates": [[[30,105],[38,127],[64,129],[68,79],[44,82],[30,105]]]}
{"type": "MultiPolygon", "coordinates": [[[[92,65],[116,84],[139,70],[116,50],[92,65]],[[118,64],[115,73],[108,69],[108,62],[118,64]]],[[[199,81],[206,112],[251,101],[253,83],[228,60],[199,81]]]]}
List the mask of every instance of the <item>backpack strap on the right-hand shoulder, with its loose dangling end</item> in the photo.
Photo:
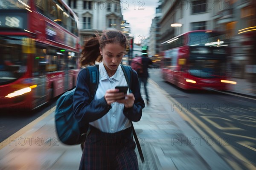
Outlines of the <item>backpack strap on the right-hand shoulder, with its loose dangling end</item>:
{"type": "MultiPolygon", "coordinates": [[[[131,87],[132,87],[131,82],[132,82],[132,79],[133,79],[132,69],[131,69],[130,66],[127,66],[127,65],[121,65],[121,68],[122,68],[122,71],[124,72],[125,79],[126,79],[126,82],[128,84],[128,87],[129,87],[129,92],[131,93],[131,87]]],[[[139,139],[137,137],[137,134],[136,134],[136,131],[134,129],[134,126],[133,126],[132,122],[131,122],[131,128],[132,128],[132,133],[133,133],[136,145],[137,145],[137,149],[138,149],[139,154],[140,154],[140,159],[141,159],[142,163],[144,163],[145,159],[144,159],[144,156],[143,156],[143,153],[142,153],[142,149],[140,147],[139,139]]]]}

